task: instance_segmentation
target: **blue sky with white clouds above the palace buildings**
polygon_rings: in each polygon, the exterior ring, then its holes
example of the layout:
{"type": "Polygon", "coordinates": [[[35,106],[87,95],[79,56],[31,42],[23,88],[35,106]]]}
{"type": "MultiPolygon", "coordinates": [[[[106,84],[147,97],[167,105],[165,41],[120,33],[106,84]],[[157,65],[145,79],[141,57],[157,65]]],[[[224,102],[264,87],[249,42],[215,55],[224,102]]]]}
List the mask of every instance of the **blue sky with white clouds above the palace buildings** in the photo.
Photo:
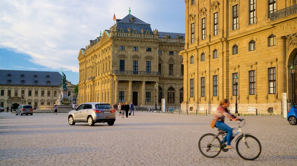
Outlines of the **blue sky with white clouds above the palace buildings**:
{"type": "Polygon", "coordinates": [[[78,53],[131,14],[161,32],[185,33],[184,0],[0,0],[0,69],[58,71],[78,83],[78,53]]]}

